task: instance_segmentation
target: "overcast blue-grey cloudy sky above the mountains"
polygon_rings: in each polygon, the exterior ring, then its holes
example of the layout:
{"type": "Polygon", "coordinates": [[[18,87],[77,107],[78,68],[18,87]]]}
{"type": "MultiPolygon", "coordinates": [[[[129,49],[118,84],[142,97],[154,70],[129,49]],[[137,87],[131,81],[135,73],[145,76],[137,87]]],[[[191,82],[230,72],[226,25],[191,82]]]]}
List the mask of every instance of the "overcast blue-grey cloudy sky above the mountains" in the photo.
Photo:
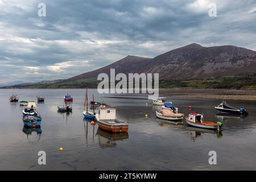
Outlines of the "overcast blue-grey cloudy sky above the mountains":
{"type": "Polygon", "coordinates": [[[0,0],[0,82],[69,78],[191,43],[256,51],[255,20],[255,0],[0,0]]]}

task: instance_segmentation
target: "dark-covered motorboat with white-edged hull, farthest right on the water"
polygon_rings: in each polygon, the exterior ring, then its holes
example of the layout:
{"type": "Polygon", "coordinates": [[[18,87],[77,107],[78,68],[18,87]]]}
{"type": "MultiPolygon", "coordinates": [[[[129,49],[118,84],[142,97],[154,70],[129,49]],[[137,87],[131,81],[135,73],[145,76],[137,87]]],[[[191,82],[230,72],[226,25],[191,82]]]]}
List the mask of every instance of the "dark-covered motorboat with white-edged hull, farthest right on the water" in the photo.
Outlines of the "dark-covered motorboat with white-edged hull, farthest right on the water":
{"type": "Polygon", "coordinates": [[[215,109],[220,111],[221,113],[230,113],[230,114],[240,114],[240,115],[248,115],[245,108],[240,107],[240,109],[230,106],[226,103],[226,101],[221,102],[220,105],[216,106],[215,109]]]}

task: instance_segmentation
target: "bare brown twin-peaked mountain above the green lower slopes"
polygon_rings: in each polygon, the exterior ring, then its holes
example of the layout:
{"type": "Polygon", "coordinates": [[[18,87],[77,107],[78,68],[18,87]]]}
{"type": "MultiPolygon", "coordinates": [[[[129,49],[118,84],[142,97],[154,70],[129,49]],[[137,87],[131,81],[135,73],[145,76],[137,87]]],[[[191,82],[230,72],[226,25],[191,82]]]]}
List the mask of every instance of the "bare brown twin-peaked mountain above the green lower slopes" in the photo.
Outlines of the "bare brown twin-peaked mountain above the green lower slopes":
{"type": "Polygon", "coordinates": [[[159,73],[164,80],[232,76],[256,72],[256,52],[236,46],[203,47],[189,44],[163,53],[154,59],[127,56],[96,71],[65,80],[97,78],[100,73],[159,73]]]}

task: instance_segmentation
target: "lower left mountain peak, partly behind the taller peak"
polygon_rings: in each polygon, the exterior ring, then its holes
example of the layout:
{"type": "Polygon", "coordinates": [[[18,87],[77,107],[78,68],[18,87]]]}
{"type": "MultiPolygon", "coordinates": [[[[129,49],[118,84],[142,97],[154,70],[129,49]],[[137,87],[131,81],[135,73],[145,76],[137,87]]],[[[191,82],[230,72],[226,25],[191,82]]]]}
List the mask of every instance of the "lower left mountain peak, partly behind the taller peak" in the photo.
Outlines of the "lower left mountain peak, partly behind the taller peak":
{"type": "Polygon", "coordinates": [[[100,73],[107,73],[110,75],[110,69],[115,68],[115,74],[118,73],[138,73],[141,68],[145,67],[150,61],[150,58],[138,57],[138,56],[127,56],[113,64],[107,65],[106,67],[96,69],[95,71],[84,73],[65,81],[76,81],[85,78],[97,78],[100,73]]]}

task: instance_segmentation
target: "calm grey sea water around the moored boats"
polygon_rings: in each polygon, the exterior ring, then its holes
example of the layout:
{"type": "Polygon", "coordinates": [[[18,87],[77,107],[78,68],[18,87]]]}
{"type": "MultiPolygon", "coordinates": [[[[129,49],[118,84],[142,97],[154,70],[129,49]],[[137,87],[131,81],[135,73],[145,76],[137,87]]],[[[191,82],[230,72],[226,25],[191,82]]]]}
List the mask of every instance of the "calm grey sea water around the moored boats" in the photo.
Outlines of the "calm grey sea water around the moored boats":
{"type": "Polygon", "coordinates": [[[0,90],[0,169],[18,170],[228,170],[256,169],[256,105],[255,101],[229,101],[244,106],[250,115],[234,117],[217,114],[214,105],[220,100],[182,100],[168,95],[168,100],[189,114],[188,106],[203,111],[208,121],[222,121],[222,133],[188,127],[186,124],[165,123],[155,117],[155,110],[143,94],[105,95],[89,90],[96,101],[117,107],[117,117],[129,123],[129,132],[111,134],[84,121],[85,90],[0,90]],[[11,104],[9,96],[34,100],[38,104],[42,126],[30,130],[23,126],[19,104],[11,104]],[[73,113],[58,113],[65,94],[74,98],[73,113]],[[144,115],[150,117],[145,118],[144,115]],[[59,148],[63,147],[63,151],[59,148]],[[45,151],[47,164],[38,165],[38,152],[45,151]],[[217,165],[208,163],[209,151],[217,152],[217,165]]]}

